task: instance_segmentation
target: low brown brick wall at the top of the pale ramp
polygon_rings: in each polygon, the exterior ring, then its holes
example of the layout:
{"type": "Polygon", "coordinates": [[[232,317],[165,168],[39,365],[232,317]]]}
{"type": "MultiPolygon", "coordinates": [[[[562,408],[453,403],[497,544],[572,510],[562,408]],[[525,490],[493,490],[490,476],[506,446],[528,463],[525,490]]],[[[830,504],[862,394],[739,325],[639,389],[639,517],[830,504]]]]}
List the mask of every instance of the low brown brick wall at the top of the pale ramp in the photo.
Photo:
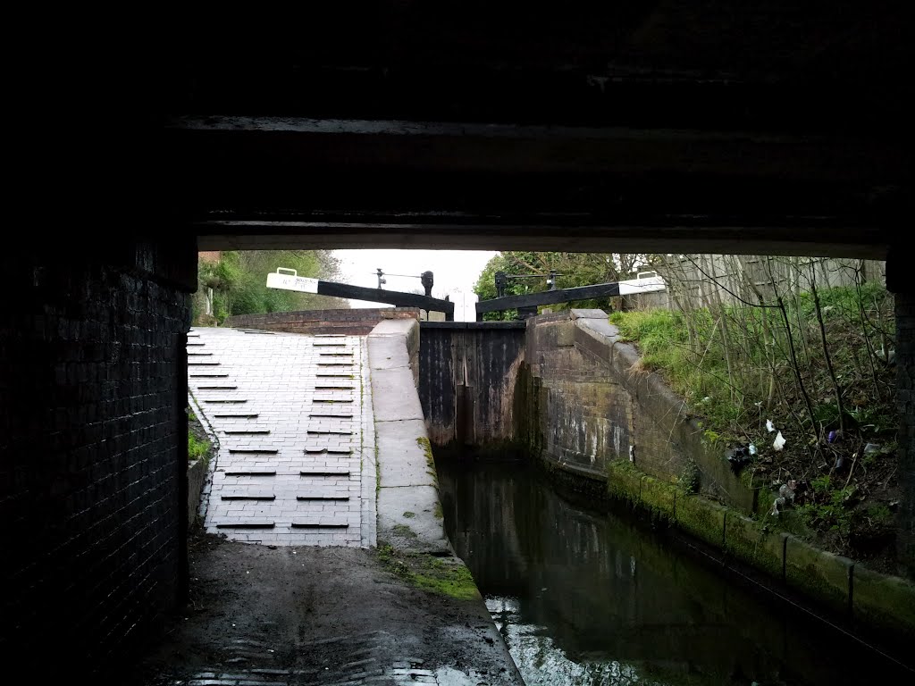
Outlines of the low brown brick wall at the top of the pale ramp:
{"type": "Polygon", "coordinates": [[[376,324],[385,319],[419,319],[412,307],[378,307],[350,310],[301,310],[271,312],[266,315],[230,316],[226,327],[263,328],[292,334],[341,334],[368,336],[376,324]]]}

